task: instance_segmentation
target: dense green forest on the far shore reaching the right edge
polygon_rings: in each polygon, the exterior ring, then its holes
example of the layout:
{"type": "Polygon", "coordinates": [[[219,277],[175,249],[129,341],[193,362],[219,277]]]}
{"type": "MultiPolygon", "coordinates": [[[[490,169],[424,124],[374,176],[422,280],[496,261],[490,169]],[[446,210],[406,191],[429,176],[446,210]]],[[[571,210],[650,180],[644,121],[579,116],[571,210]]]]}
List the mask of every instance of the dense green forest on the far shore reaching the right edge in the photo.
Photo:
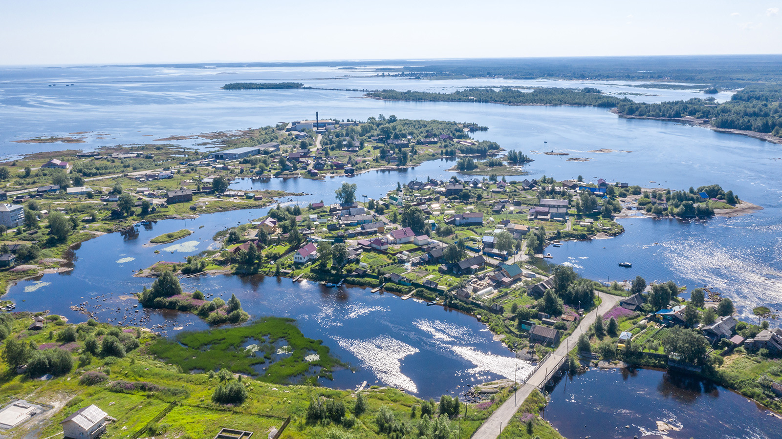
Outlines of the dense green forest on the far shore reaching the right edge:
{"type": "Polygon", "coordinates": [[[738,91],[730,101],[717,104],[711,98],[646,104],[619,102],[620,114],[640,117],[708,119],[717,128],[770,133],[782,137],[782,86],[753,84],[738,91]]]}

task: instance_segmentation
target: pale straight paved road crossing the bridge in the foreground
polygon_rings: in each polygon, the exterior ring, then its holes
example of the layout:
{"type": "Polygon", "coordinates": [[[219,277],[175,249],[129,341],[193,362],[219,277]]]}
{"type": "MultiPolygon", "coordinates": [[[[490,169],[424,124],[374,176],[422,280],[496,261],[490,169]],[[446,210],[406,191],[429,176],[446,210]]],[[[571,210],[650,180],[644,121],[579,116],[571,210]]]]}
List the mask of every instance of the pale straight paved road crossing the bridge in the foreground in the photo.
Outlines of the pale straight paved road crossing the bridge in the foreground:
{"type": "MultiPolygon", "coordinates": [[[[597,293],[597,291],[595,292],[597,293]]],[[[581,334],[587,332],[590,325],[594,323],[597,314],[603,315],[605,312],[608,312],[608,310],[612,309],[621,299],[620,297],[604,293],[600,294],[600,297],[603,299],[600,306],[581,320],[581,323],[579,323],[579,326],[573,331],[573,334],[561,341],[559,348],[547,357],[546,361],[540,365],[536,372],[533,373],[532,377],[529,377],[529,379],[526,380],[526,383],[523,384],[522,387],[518,388],[515,398],[508,398],[508,401],[504,402],[503,405],[500,405],[497,412],[494,412],[489,419],[486,419],[486,422],[472,435],[472,439],[496,439],[496,437],[500,435],[502,429],[508,426],[511,418],[515,415],[516,410],[518,410],[518,405],[522,405],[522,402],[526,400],[533,390],[540,388],[543,385],[543,382],[547,377],[548,369],[555,367],[559,363],[559,360],[568,355],[569,348],[575,346],[581,334]]]]}

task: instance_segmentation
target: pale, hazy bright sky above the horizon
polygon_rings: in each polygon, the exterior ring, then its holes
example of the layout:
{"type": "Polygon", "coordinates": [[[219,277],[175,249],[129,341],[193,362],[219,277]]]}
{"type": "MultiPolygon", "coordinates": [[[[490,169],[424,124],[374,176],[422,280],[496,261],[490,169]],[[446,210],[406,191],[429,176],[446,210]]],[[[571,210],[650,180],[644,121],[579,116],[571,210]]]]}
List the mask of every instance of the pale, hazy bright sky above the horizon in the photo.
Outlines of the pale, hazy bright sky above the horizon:
{"type": "Polygon", "coordinates": [[[782,0],[0,0],[0,65],[782,53],[782,0]]]}

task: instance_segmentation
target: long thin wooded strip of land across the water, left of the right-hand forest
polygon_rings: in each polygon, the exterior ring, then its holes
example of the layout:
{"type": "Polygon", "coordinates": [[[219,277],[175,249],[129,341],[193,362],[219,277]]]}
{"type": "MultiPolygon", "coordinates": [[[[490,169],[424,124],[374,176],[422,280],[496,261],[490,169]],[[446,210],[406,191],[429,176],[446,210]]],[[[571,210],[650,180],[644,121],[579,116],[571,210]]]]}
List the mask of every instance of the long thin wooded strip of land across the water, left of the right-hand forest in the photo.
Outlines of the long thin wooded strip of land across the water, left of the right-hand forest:
{"type": "Polygon", "coordinates": [[[370,98],[389,101],[448,101],[448,102],[490,102],[508,105],[593,105],[613,108],[622,102],[632,102],[627,98],[615,98],[603,95],[597,88],[536,88],[533,91],[519,91],[512,88],[468,88],[453,93],[433,93],[428,91],[383,90],[367,93],[370,98]]]}

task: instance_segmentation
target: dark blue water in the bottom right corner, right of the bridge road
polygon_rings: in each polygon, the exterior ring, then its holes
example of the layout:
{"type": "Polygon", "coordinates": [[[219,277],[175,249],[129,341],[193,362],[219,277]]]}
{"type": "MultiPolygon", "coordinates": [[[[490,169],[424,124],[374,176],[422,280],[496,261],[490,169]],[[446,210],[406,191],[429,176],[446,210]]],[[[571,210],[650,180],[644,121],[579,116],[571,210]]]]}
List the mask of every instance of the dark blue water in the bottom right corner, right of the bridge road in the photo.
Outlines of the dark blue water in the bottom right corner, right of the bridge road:
{"type": "Polygon", "coordinates": [[[690,375],[592,369],[561,380],[543,417],[568,439],[782,437],[782,420],[769,413],[740,394],[690,375]],[[658,421],[674,429],[666,430],[658,421]]]}

